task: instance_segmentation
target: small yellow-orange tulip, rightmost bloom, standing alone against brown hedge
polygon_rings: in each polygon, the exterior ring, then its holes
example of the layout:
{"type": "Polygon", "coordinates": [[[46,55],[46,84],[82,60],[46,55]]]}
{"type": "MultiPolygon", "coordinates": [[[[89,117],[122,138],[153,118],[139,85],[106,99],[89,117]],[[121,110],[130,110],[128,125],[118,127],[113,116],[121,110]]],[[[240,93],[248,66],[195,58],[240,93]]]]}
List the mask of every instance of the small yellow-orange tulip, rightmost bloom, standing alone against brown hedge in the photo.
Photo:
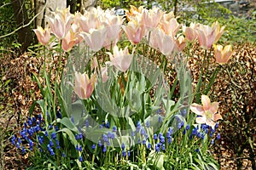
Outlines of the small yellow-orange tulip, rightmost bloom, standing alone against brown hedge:
{"type": "Polygon", "coordinates": [[[231,45],[227,45],[223,48],[222,45],[213,44],[213,48],[215,59],[220,65],[227,63],[232,54],[234,54],[231,45]]]}

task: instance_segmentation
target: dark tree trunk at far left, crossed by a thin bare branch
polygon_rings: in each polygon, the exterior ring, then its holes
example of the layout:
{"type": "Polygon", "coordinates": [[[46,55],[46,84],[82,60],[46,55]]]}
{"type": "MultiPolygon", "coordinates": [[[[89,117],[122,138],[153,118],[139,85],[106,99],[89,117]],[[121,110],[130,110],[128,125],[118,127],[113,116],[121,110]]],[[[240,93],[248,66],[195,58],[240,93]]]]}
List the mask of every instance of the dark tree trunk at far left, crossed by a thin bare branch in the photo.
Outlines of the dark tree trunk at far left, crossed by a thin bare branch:
{"type": "Polygon", "coordinates": [[[24,0],[12,0],[12,6],[15,11],[15,20],[17,27],[22,27],[18,33],[18,41],[21,44],[21,52],[26,51],[26,49],[30,46],[33,41],[33,34],[30,26],[25,26],[29,23],[29,19],[26,13],[25,1],[24,0]]]}

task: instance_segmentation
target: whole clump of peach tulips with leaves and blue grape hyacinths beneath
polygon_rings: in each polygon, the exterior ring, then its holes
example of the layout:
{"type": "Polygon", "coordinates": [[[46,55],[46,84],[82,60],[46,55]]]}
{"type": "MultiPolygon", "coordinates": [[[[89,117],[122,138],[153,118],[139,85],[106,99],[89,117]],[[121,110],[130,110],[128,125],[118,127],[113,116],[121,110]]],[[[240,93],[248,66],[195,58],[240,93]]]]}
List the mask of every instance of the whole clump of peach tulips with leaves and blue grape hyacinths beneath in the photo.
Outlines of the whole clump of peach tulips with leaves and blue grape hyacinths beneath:
{"type": "Polygon", "coordinates": [[[185,27],[160,8],[131,7],[126,17],[123,24],[113,9],[82,15],[67,8],[49,18],[49,28],[34,30],[44,46],[43,78],[34,76],[41,113],[33,114],[32,105],[11,137],[31,168],[218,169],[208,147],[220,138],[215,131],[222,116],[207,94],[233,54],[230,45],[214,44],[218,67],[209,74],[209,52],[224,26],[185,27]],[[205,53],[192,89],[187,62],[195,42],[205,53]],[[168,62],[177,74],[171,85],[164,74],[168,62]]]}

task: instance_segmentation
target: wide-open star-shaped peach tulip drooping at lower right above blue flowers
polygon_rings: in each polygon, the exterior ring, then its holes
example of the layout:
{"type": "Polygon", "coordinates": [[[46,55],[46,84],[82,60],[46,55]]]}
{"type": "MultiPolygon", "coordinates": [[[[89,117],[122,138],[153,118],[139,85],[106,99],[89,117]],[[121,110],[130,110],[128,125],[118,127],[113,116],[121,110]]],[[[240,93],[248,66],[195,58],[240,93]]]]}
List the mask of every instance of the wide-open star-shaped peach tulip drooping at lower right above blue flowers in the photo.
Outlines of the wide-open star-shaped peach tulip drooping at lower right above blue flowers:
{"type": "Polygon", "coordinates": [[[201,96],[202,105],[192,104],[190,105],[190,110],[193,111],[199,117],[196,117],[197,123],[206,123],[212,128],[215,127],[216,122],[222,119],[222,116],[217,113],[218,102],[211,103],[211,100],[207,95],[201,96]]]}

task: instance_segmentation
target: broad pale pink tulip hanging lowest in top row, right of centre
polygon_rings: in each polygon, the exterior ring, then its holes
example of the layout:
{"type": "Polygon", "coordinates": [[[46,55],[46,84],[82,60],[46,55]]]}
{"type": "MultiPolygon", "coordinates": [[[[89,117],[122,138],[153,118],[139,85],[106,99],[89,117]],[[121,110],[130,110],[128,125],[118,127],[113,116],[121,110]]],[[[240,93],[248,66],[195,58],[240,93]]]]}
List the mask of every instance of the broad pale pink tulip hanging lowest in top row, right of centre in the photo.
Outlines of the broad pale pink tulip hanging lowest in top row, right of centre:
{"type": "Polygon", "coordinates": [[[155,28],[149,40],[149,45],[153,48],[159,49],[164,55],[172,54],[176,47],[176,42],[172,35],[166,35],[160,28],[155,28]]]}

